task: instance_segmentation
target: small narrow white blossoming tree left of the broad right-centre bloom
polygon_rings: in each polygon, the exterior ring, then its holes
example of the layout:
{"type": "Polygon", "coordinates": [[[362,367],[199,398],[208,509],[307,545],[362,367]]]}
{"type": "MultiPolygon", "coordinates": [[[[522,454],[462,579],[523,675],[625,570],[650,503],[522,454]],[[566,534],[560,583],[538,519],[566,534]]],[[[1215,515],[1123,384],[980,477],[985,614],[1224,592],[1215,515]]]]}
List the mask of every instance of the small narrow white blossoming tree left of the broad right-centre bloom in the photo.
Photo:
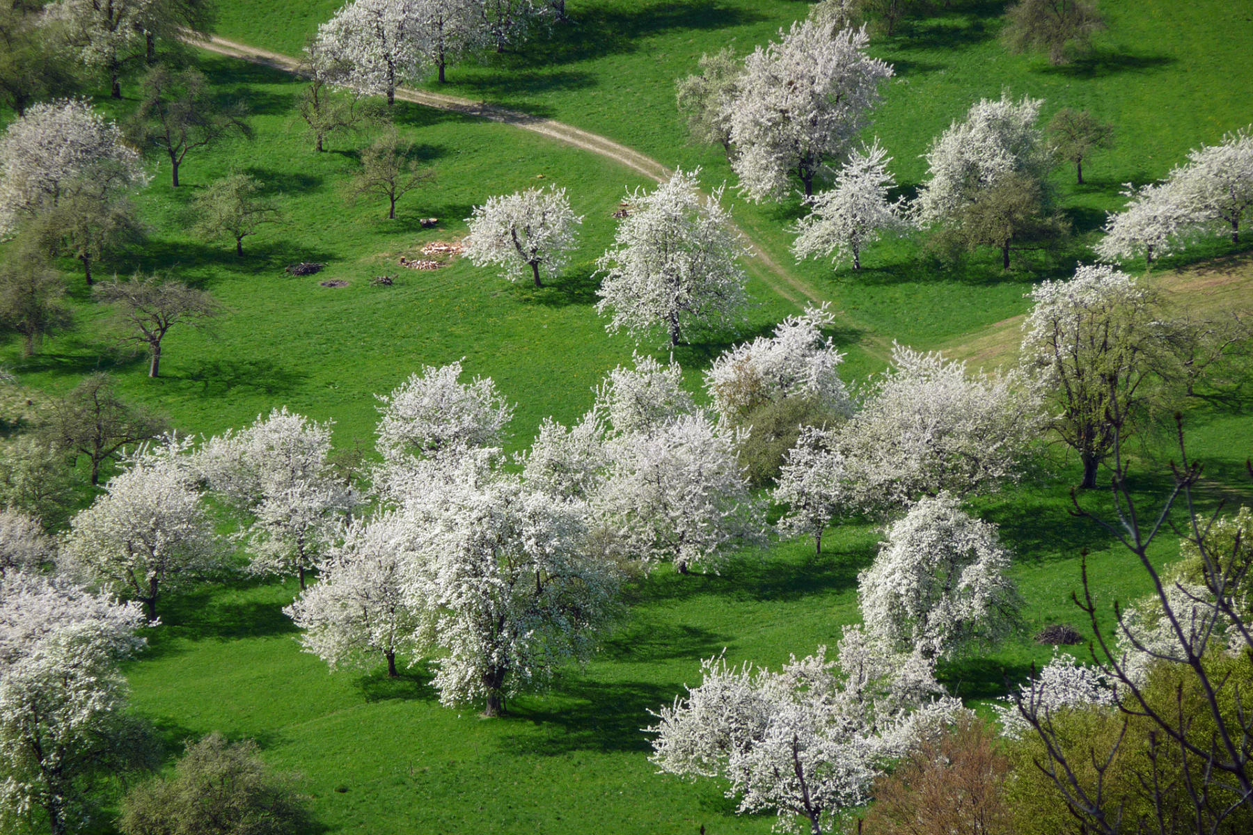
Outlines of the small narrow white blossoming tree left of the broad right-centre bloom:
{"type": "Polygon", "coordinates": [[[796,446],[787,452],[773,498],[787,506],[776,526],[784,537],[812,536],[814,552],[822,553],[822,533],[848,510],[848,476],[837,432],[802,427],[796,446]]]}

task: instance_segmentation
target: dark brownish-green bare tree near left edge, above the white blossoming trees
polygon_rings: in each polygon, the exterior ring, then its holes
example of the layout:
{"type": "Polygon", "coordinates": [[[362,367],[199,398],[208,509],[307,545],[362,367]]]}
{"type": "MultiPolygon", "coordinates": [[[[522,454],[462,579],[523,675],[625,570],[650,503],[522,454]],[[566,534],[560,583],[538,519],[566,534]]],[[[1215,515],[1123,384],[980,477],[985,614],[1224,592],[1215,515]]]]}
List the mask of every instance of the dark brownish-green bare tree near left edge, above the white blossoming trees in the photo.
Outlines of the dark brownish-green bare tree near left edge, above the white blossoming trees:
{"type": "Polygon", "coordinates": [[[122,399],[112,376],[90,374],[55,401],[45,431],[70,454],[86,456],[91,483],[100,483],[100,466],[123,448],[150,441],[169,428],[165,418],[122,399]]]}

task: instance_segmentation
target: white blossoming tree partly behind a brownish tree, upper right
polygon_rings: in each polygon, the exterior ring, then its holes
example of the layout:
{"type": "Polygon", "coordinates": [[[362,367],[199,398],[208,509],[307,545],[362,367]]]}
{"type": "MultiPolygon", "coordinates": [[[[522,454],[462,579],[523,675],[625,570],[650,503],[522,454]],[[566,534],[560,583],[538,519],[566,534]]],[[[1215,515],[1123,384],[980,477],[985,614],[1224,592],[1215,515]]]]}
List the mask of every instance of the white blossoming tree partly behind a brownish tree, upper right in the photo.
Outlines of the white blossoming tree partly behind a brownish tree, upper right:
{"type": "Polygon", "coordinates": [[[940,134],[926,153],[930,179],[913,203],[918,222],[947,220],[1009,174],[1042,178],[1051,161],[1036,125],[1042,104],[1027,96],[1015,104],[1007,91],[1000,101],[980,99],[965,121],[940,134]]]}

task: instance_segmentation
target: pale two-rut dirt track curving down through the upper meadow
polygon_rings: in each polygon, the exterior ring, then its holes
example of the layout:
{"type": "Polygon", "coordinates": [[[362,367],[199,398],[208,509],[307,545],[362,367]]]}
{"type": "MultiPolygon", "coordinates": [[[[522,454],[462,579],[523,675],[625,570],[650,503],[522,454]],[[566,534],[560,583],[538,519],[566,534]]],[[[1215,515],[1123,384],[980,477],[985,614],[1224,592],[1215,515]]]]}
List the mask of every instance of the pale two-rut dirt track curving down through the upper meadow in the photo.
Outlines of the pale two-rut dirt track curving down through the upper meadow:
{"type": "MultiPolygon", "coordinates": [[[[299,61],[289,55],[281,55],[266,49],[248,46],[233,40],[218,38],[216,35],[207,41],[197,40],[190,43],[200,49],[205,49],[219,55],[228,55],[231,58],[252,61],[253,64],[272,66],[286,73],[301,73],[299,61]]],[[[554,119],[541,119],[539,116],[531,116],[525,113],[519,113],[517,110],[510,110],[507,108],[487,104],[485,101],[472,101],[455,95],[429,93],[426,90],[412,90],[408,88],[397,88],[396,98],[402,101],[412,101],[413,104],[437,108],[440,110],[464,113],[469,116],[499,121],[501,124],[512,125],[514,128],[520,128],[521,130],[530,130],[531,133],[548,136],[549,139],[555,139],[556,141],[611,159],[615,163],[625,165],[633,172],[643,174],[644,177],[658,183],[668,179],[672,173],[652,156],[647,156],[645,154],[633,150],[625,145],[620,145],[606,136],[589,133],[554,119]]],[[[771,258],[764,249],[758,247],[752,238],[744,234],[743,229],[738,229],[738,232],[743,235],[748,250],[753,255],[749,260],[751,268],[753,268],[753,272],[757,273],[758,278],[761,278],[781,297],[797,307],[804,307],[808,303],[831,300],[823,297],[811,284],[784,269],[778,262],[771,258]]],[[[862,334],[861,342],[863,348],[876,356],[887,356],[887,343],[873,336],[868,327],[861,322],[847,318],[842,312],[838,312],[837,315],[845,318],[850,327],[862,334]]]]}

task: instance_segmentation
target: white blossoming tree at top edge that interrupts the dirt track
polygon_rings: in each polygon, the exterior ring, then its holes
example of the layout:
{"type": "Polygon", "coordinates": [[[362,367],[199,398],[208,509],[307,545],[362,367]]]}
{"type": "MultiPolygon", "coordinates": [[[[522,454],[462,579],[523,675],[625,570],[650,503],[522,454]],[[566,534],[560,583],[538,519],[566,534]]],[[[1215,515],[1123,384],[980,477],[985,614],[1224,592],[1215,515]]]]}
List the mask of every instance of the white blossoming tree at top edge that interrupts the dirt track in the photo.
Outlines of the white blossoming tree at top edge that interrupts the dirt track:
{"type": "Polygon", "coordinates": [[[337,83],[391,105],[396,88],[422,73],[422,36],[416,0],[348,0],[318,26],[316,49],[342,68],[337,83]]]}

